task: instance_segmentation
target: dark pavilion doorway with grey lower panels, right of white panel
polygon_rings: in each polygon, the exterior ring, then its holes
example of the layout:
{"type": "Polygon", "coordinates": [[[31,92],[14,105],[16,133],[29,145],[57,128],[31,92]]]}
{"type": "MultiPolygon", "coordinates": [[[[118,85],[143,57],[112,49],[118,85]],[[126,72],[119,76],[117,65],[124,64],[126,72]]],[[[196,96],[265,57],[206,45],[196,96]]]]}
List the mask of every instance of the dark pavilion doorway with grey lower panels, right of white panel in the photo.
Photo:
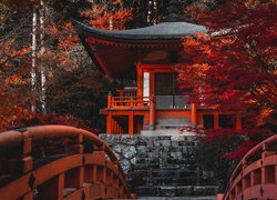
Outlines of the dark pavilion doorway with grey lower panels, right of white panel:
{"type": "Polygon", "coordinates": [[[186,98],[177,86],[177,73],[155,73],[155,94],[157,109],[185,109],[186,98]]]}

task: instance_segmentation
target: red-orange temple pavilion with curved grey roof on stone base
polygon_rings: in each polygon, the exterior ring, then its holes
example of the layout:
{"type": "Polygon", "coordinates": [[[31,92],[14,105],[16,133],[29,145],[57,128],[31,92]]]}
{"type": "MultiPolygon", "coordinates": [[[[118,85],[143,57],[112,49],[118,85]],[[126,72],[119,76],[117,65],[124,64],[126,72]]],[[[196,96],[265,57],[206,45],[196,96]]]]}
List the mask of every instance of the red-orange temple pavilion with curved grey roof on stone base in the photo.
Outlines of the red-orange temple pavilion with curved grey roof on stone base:
{"type": "Polygon", "coordinates": [[[124,80],[117,93],[107,96],[106,133],[155,133],[179,127],[242,128],[237,111],[188,104],[176,83],[176,63],[187,61],[183,37],[206,32],[187,22],[109,31],[75,21],[89,54],[111,79],[124,80]]]}

